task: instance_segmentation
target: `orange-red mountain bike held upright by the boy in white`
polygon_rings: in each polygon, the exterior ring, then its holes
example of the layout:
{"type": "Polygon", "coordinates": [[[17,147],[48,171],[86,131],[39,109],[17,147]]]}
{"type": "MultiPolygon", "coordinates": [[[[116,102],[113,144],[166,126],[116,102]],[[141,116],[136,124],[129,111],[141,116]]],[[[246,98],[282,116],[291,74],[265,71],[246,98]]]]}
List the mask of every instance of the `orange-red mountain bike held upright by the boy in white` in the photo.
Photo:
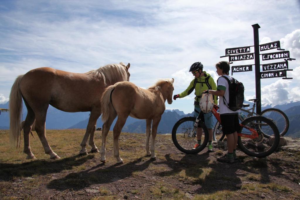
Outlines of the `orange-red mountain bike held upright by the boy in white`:
{"type": "MultiPolygon", "coordinates": [[[[212,113],[220,122],[220,113],[217,112],[218,106],[214,105],[212,113]]],[[[197,118],[184,117],[179,119],[172,129],[172,140],[174,145],[183,153],[197,154],[202,151],[208,143],[208,130],[201,121],[203,112],[197,118]],[[197,143],[196,128],[201,127],[203,143],[198,148],[193,148],[197,143]]],[[[238,146],[245,154],[253,157],[266,157],[272,154],[279,144],[279,131],[268,118],[263,116],[252,116],[244,119],[240,123],[238,131],[238,146]],[[274,142],[269,141],[266,135],[274,135],[274,142]]]]}

